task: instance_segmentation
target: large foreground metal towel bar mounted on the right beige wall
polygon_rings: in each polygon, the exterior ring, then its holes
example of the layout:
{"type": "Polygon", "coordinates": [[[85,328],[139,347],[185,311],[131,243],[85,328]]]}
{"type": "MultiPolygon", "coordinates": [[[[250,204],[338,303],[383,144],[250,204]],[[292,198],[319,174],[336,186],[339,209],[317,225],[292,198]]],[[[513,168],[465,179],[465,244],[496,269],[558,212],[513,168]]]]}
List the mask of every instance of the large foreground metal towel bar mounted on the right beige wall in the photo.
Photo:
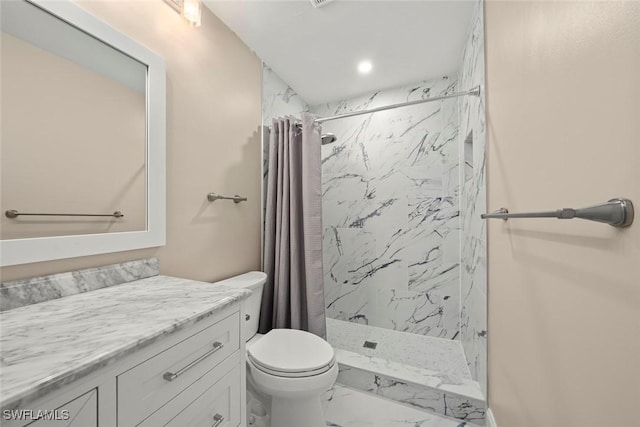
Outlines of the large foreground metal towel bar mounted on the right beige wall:
{"type": "Polygon", "coordinates": [[[564,208],[546,212],[509,213],[506,208],[500,208],[495,212],[480,215],[482,219],[507,219],[511,218],[580,218],[589,221],[604,222],[613,227],[628,227],[633,224],[633,203],[629,199],[611,199],[606,203],[589,206],[582,209],[564,208]]]}

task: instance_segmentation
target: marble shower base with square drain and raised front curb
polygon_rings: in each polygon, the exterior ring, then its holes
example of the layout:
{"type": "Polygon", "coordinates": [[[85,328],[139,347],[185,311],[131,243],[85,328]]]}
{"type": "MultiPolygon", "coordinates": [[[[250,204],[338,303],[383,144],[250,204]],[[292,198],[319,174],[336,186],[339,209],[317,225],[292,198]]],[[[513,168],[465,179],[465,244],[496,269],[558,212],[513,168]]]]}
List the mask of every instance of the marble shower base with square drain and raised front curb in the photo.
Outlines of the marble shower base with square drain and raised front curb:
{"type": "Polygon", "coordinates": [[[339,384],[484,425],[485,399],[459,341],[335,319],[327,319],[327,338],[339,384]]]}

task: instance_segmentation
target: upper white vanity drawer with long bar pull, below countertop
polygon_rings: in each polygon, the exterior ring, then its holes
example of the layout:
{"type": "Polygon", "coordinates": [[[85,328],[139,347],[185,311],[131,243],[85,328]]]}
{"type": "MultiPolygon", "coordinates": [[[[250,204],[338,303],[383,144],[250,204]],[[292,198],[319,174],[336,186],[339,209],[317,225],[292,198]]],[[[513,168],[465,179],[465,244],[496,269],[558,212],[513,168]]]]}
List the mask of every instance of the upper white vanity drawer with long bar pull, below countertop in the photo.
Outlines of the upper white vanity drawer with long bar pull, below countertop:
{"type": "MultiPolygon", "coordinates": [[[[118,425],[133,426],[240,347],[238,312],[118,375],[118,425]]],[[[191,397],[190,400],[193,400],[191,397]]]]}

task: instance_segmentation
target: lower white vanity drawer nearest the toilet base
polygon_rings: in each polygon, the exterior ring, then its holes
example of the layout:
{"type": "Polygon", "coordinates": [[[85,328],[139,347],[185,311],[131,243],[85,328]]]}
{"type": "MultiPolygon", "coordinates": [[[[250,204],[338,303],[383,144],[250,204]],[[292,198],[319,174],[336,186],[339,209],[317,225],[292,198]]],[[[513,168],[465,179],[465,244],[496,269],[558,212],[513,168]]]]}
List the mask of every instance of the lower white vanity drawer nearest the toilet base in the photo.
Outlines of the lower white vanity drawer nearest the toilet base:
{"type": "MultiPolygon", "coordinates": [[[[176,413],[168,405],[139,427],[237,427],[240,425],[240,365],[176,413]]],[[[204,380],[204,379],[203,379],[204,380]]],[[[178,404],[178,402],[176,402],[178,404]]]]}

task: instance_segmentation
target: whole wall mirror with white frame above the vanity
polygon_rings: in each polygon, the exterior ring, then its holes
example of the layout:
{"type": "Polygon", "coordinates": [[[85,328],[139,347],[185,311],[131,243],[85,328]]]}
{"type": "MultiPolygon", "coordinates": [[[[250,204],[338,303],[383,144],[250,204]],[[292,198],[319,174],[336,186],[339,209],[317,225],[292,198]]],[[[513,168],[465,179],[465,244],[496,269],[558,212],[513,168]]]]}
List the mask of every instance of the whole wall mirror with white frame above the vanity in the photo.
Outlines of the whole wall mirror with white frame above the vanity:
{"type": "Polygon", "coordinates": [[[164,61],[71,2],[1,8],[0,264],[163,245],[164,61]]]}

